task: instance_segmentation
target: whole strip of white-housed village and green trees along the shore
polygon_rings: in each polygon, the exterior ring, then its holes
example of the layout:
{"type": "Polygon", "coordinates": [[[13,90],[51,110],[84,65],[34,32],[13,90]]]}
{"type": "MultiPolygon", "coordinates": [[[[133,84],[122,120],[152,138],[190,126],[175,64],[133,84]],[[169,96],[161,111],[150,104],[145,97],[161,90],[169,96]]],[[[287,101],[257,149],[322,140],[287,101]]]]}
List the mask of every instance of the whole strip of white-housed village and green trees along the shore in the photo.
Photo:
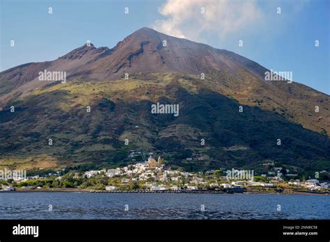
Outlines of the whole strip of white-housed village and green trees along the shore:
{"type": "MultiPolygon", "coordinates": [[[[329,191],[328,181],[317,179],[283,179],[283,168],[273,168],[269,174],[254,175],[253,170],[209,170],[185,172],[166,166],[161,156],[150,154],[145,162],[132,163],[122,168],[49,173],[42,177],[13,175],[0,177],[0,191],[42,190],[50,188],[81,188],[91,191],[230,191],[230,193],[278,193],[287,190],[329,191]],[[281,172],[282,171],[282,172],[281,172]],[[2,178],[2,179],[1,179],[2,178]],[[10,181],[10,182],[8,182],[10,181]]],[[[26,174],[26,173],[25,173],[26,174]]]]}

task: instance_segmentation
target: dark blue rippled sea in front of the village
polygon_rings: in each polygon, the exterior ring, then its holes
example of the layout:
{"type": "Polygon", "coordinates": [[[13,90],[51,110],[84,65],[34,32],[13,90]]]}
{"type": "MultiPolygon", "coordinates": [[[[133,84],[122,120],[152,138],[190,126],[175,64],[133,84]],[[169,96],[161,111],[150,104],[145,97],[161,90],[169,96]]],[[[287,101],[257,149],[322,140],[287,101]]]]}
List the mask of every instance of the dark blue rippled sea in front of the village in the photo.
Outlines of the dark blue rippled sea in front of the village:
{"type": "Polygon", "coordinates": [[[330,219],[323,195],[0,193],[1,219],[330,219]],[[52,205],[52,211],[49,211],[52,205]],[[125,207],[128,211],[125,211],[125,207]],[[278,211],[278,205],[281,211],[278,211]],[[203,210],[205,208],[205,211],[203,210]]]}

